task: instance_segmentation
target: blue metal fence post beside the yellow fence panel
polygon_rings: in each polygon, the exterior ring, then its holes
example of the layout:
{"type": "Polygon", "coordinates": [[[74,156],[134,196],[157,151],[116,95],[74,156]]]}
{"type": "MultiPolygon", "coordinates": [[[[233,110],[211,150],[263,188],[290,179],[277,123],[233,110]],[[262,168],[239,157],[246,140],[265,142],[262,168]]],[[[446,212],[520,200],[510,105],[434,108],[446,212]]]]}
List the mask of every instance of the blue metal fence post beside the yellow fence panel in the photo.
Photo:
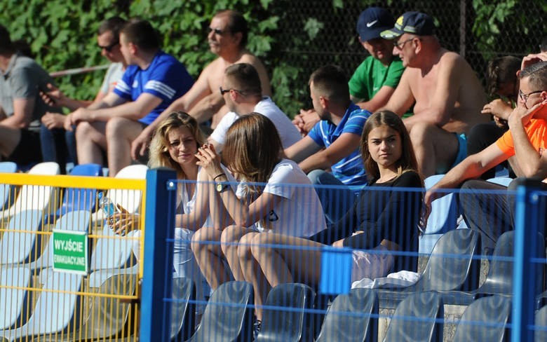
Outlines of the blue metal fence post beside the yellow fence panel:
{"type": "Polygon", "coordinates": [[[170,306],[163,298],[171,294],[173,246],[166,242],[166,227],[175,226],[175,211],[166,208],[168,180],[176,178],[175,171],[167,168],[147,171],[140,341],[158,341],[160,336],[160,341],[170,341],[170,306]]]}

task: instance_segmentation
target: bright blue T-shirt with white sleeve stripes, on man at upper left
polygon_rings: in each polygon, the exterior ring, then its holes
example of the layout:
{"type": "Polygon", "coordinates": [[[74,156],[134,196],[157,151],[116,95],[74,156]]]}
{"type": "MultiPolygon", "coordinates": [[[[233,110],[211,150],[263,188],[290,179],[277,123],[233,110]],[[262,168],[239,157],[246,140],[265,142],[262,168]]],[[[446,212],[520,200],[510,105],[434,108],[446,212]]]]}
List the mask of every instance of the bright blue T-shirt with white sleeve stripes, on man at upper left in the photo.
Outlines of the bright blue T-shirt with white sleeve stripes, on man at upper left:
{"type": "Polygon", "coordinates": [[[172,55],[159,51],[147,69],[130,65],[116,84],[114,93],[128,101],[135,101],[142,93],[159,97],[158,107],[139,119],[149,125],[169,105],[184,95],[194,85],[194,79],[184,65],[172,55]]]}

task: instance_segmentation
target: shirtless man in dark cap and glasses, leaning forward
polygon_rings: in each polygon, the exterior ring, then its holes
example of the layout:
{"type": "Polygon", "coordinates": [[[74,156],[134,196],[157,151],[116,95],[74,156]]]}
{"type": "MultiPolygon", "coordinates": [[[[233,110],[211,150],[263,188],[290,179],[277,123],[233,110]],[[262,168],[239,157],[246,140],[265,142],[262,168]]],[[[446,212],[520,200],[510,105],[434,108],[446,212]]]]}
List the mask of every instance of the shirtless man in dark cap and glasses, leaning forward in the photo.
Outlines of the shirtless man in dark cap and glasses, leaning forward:
{"type": "Polygon", "coordinates": [[[393,29],[381,32],[394,39],[393,54],[406,67],[386,109],[402,116],[414,104],[414,116],[404,119],[424,177],[445,173],[467,156],[466,133],[486,104],[485,90],[471,66],[457,53],[442,48],[433,19],[407,12],[393,29]]]}

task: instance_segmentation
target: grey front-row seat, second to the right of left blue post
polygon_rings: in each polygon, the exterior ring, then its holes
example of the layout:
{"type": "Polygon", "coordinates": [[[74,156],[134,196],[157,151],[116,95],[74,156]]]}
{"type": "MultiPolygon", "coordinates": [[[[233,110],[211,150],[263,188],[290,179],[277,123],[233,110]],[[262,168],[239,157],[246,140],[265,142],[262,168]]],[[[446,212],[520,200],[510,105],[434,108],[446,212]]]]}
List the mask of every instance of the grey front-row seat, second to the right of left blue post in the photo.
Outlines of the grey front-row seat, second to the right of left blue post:
{"type": "Polygon", "coordinates": [[[212,292],[201,324],[188,341],[251,341],[252,303],[252,285],[225,282],[212,292]]]}

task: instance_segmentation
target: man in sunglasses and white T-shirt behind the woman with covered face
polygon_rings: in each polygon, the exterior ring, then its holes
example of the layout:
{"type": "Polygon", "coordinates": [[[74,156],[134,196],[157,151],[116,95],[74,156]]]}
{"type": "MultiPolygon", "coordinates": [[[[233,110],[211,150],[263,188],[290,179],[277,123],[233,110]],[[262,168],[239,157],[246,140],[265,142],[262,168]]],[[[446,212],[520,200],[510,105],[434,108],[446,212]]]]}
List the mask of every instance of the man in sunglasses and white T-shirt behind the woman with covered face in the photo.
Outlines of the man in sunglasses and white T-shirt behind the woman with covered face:
{"type": "Polygon", "coordinates": [[[248,63],[231,65],[224,71],[224,80],[220,93],[230,110],[212,132],[208,141],[215,145],[216,151],[222,151],[226,132],[241,115],[253,111],[269,118],[277,128],[283,149],[300,140],[298,130],[288,116],[276,106],[270,97],[262,96],[260,78],[257,69],[248,63]]]}

